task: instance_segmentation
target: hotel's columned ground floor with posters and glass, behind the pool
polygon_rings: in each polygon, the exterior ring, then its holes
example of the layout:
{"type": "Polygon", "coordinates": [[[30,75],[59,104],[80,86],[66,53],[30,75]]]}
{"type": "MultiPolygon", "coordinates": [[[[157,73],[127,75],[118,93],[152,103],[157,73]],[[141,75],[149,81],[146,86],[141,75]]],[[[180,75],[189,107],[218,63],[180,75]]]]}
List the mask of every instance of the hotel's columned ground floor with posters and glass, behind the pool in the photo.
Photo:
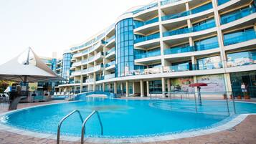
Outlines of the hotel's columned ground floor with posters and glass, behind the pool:
{"type": "MultiPolygon", "coordinates": [[[[113,92],[123,97],[167,97],[173,93],[197,92],[194,87],[189,87],[192,83],[207,83],[207,87],[201,87],[201,92],[212,93],[212,96],[222,97],[223,92],[234,97],[256,97],[256,71],[230,72],[214,75],[197,76],[174,76],[155,77],[146,79],[122,80],[115,78],[115,81],[97,81],[61,85],[57,91],[62,93],[82,93],[88,91],[113,92]],[[245,89],[242,89],[245,85],[245,89]]],[[[203,95],[203,94],[202,94],[203,95]]],[[[203,95],[204,96],[204,95],[203,95]]]]}

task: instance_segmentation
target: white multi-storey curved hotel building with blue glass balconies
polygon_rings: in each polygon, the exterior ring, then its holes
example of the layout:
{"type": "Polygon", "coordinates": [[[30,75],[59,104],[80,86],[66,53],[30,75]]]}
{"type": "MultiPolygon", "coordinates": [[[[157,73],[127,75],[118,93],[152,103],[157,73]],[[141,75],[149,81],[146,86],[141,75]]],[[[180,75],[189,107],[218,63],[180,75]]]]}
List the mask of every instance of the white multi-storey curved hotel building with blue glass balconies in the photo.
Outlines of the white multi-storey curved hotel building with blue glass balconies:
{"type": "Polygon", "coordinates": [[[240,95],[244,82],[256,97],[255,11],[252,0],[163,0],[130,9],[70,48],[73,81],[60,92],[146,97],[204,82],[202,91],[240,95]]]}

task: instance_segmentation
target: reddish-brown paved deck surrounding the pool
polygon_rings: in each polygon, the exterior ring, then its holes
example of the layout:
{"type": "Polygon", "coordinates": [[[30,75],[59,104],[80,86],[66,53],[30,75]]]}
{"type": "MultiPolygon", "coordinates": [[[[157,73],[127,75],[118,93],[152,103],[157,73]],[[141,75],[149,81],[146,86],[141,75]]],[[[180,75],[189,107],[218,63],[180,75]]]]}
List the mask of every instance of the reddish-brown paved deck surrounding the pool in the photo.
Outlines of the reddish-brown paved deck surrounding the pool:
{"type": "MultiPolygon", "coordinates": [[[[35,105],[46,105],[51,103],[65,102],[63,100],[53,100],[49,102],[34,102],[27,104],[19,104],[18,109],[24,107],[32,107],[35,105]]],[[[250,100],[250,102],[255,102],[255,100],[250,100]]],[[[8,105],[0,105],[0,113],[7,112],[8,105]]],[[[6,130],[0,130],[0,143],[13,144],[13,143],[56,143],[56,140],[46,139],[46,138],[34,138],[32,136],[19,135],[16,133],[11,133],[6,130]]],[[[80,142],[69,142],[61,141],[61,143],[80,143],[80,142]]],[[[86,140],[85,140],[86,143],[86,140]]],[[[191,138],[181,138],[176,140],[166,140],[151,142],[145,144],[255,144],[256,143],[256,115],[249,115],[242,121],[239,125],[235,126],[232,130],[224,130],[219,133],[212,133],[210,135],[202,135],[191,138]]],[[[87,143],[89,144],[89,143],[87,143]]]]}

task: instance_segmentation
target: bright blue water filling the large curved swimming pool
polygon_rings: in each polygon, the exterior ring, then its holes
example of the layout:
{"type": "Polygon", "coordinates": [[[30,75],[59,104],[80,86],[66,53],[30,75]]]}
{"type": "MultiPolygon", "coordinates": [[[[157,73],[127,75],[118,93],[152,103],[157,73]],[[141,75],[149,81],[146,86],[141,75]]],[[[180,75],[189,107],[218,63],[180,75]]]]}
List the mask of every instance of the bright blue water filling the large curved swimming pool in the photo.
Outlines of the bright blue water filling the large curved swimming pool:
{"type": "MultiPolygon", "coordinates": [[[[256,105],[236,102],[237,113],[256,112],[256,105]]],[[[57,133],[57,125],[72,110],[80,110],[85,118],[93,110],[100,112],[104,137],[127,138],[180,133],[209,128],[229,119],[225,101],[204,100],[195,107],[193,100],[115,100],[87,98],[85,101],[33,107],[1,117],[1,123],[40,133],[57,133]]],[[[229,102],[229,113],[233,112],[229,102]]],[[[88,121],[86,137],[99,137],[96,115],[88,121]]],[[[80,135],[81,121],[77,114],[62,125],[62,135],[80,135]]]]}

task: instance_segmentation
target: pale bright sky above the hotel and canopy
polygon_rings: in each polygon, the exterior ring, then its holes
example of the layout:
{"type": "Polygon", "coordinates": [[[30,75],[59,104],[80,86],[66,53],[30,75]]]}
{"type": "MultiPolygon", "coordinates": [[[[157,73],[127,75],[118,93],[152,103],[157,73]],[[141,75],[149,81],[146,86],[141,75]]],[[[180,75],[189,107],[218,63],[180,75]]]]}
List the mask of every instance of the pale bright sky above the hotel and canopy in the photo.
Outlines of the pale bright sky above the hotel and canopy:
{"type": "Polygon", "coordinates": [[[65,49],[151,0],[0,0],[0,64],[33,47],[42,56],[65,49]]]}

